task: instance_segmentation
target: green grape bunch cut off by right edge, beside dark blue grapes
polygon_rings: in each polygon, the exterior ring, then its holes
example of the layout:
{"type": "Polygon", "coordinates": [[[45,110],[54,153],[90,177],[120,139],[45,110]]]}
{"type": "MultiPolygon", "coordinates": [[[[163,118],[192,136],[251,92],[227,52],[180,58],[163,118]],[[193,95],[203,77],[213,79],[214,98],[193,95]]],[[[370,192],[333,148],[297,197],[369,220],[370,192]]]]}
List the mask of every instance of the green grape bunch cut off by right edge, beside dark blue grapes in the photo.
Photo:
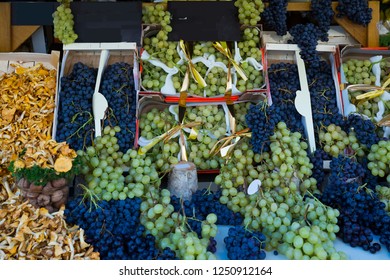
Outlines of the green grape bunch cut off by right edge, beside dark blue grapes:
{"type": "Polygon", "coordinates": [[[367,167],[372,175],[386,177],[390,183],[390,140],[381,140],[378,144],[372,145],[367,159],[369,161],[367,167]]]}

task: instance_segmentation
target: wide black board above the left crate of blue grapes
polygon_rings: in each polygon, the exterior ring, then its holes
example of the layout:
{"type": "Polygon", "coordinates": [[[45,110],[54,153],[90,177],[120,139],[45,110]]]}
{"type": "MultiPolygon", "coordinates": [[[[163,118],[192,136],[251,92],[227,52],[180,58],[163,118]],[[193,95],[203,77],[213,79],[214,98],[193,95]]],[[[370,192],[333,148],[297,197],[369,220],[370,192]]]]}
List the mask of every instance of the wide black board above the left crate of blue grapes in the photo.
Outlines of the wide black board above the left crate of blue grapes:
{"type": "Polygon", "coordinates": [[[76,42],[141,43],[142,3],[73,2],[76,42]]]}

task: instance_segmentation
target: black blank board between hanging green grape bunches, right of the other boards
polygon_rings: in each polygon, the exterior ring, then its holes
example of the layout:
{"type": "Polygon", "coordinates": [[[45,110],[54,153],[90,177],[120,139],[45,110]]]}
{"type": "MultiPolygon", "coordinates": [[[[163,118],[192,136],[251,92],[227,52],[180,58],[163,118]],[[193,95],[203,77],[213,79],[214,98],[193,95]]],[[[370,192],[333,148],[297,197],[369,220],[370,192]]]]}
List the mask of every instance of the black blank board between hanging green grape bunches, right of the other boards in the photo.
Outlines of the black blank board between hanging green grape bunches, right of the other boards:
{"type": "Polygon", "coordinates": [[[169,1],[172,32],[168,40],[241,41],[234,1],[169,1]]]}

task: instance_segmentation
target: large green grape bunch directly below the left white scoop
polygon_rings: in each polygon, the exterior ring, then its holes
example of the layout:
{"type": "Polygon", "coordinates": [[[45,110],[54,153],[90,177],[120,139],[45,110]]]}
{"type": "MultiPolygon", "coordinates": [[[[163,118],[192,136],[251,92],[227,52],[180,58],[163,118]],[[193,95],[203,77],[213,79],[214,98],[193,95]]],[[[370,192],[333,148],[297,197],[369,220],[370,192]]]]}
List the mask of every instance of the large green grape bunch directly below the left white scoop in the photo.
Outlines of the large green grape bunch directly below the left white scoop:
{"type": "Polygon", "coordinates": [[[119,126],[106,126],[102,136],[85,152],[78,151],[83,161],[82,174],[88,188],[104,200],[142,197],[161,183],[153,158],[129,149],[119,151],[115,134],[119,126]]]}

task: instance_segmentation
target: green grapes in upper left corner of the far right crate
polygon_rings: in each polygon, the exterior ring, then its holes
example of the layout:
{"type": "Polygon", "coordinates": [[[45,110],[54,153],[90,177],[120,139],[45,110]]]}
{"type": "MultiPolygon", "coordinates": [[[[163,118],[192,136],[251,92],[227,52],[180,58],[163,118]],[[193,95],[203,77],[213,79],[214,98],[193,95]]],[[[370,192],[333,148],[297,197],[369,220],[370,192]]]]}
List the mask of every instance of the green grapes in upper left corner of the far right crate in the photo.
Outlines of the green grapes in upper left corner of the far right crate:
{"type": "Polygon", "coordinates": [[[372,63],[368,59],[349,59],[342,64],[349,84],[375,85],[376,77],[372,73],[372,63]]]}

